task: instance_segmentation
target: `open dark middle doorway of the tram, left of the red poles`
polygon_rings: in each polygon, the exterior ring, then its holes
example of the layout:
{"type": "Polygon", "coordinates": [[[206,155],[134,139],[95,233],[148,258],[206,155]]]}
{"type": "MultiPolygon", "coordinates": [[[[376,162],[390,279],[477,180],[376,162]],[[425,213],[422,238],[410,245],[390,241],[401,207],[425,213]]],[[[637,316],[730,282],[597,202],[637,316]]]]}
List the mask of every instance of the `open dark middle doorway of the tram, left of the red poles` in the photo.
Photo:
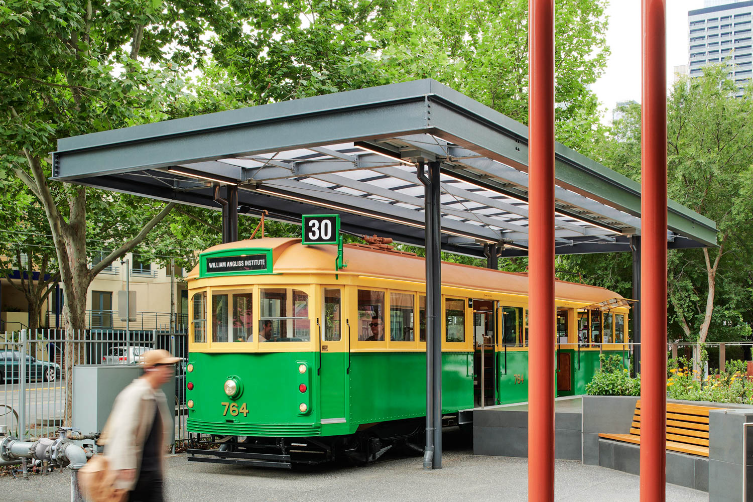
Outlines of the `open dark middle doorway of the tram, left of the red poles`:
{"type": "Polygon", "coordinates": [[[481,406],[482,402],[484,406],[496,404],[497,322],[495,307],[496,302],[492,300],[473,300],[474,406],[481,406]]]}

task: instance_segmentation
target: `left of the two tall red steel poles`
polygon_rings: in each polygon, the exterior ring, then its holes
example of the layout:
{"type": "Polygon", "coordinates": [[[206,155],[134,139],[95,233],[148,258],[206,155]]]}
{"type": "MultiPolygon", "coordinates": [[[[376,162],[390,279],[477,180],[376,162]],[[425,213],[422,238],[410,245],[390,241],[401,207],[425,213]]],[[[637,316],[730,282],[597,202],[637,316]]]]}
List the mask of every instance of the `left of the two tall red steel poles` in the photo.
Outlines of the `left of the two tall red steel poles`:
{"type": "Polygon", "coordinates": [[[529,0],[528,500],[554,500],[554,2],[529,0]]]}

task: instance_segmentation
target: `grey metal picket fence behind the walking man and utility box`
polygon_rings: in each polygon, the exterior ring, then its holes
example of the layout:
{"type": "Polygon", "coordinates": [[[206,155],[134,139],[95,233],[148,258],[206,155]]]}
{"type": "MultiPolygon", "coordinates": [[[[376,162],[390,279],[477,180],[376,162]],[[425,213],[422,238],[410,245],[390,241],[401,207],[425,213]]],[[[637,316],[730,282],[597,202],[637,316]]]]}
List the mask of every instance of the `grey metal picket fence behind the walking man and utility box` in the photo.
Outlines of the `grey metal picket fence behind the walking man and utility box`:
{"type": "Polygon", "coordinates": [[[63,423],[66,403],[73,400],[66,390],[66,368],[136,364],[144,351],[163,348],[183,360],[176,365],[175,396],[167,396],[168,403],[175,403],[175,440],[183,442],[187,342],[186,333],[169,329],[0,333],[0,432],[22,440],[53,435],[57,427],[71,425],[63,423]]]}

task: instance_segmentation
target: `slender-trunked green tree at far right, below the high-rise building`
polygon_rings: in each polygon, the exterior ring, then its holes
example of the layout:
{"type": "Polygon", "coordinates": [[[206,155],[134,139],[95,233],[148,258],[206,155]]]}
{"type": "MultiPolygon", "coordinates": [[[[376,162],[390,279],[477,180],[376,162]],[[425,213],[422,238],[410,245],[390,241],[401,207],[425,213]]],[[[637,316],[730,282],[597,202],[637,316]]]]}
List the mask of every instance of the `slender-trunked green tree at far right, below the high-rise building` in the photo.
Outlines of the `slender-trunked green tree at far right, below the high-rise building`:
{"type": "MultiPolygon", "coordinates": [[[[753,93],[734,97],[723,67],[683,79],[667,104],[667,192],[717,224],[718,248],[672,250],[668,256],[670,333],[706,342],[749,336],[753,273],[753,93]],[[746,313],[747,312],[747,313],[746,313]],[[712,333],[712,328],[715,332],[712,333]]],[[[630,106],[604,145],[604,162],[640,179],[640,108],[630,106]]]]}

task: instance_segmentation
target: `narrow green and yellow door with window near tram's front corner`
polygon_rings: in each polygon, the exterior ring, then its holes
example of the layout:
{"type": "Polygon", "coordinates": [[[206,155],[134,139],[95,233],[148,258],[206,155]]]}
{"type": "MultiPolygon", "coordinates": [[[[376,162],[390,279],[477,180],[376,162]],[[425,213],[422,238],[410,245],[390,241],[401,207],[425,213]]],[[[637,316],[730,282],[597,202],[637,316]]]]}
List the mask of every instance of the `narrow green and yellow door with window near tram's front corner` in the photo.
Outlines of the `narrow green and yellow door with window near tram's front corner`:
{"type": "Polygon", "coordinates": [[[322,288],[322,312],[319,313],[319,336],[321,340],[321,388],[322,424],[346,422],[346,399],[348,396],[348,320],[344,317],[343,290],[322,288]]]}

